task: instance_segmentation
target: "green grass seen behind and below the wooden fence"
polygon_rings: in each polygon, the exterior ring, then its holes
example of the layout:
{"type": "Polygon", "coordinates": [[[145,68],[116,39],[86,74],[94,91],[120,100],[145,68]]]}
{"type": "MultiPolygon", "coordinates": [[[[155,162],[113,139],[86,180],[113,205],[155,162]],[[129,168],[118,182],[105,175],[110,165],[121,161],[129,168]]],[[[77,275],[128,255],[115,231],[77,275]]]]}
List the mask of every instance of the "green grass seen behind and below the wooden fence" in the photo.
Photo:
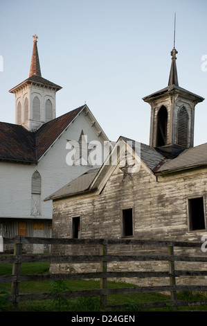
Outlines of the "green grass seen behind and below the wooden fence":
{"type": "MultiPolygon", "coordinates": [[[[23,263],[21,264],[21,274],[43,274],[48,273],[49,263],[23,263]]],[[[12,273],[12,264],[1,264],[0,275],[10,275],[12,273]]],[[[56,283],[58,285],[58,282],[56,283]]],[[[60,284],[60,283],[59,283],[60,284]]],[[[99,289],[100,282],[95,280],[66,280],[62,285],[66,286],[70,291],[82,290],[82,289],[99,289]]],[[[62,286],[61,284],[59,286],[62,286]]],[[[2,284],[2,286],[10,293],[10,284],[2,284]]],[[[126,284],[122,282],[107,282],[108,288],[120,288],[130,287],[134,284],[126,284]]],[[[61,289],[60,289],[61,290],[61,289]]],[[[63,288],[62,288],[63,290],[63,288]]],[[[4,291],[4,290],[3,290],[4,291]]],[[[45,282],[22,282],[20,284],[20,294],[22,293],[51,293],[51,281],[45,282]]],[[[4,293],[4,292],[3,292],[4,293]]],[[[0,286],[0,298],[1,298],[1,286],[0,286]]],[[[182,292],[178,294],[178,300],[204,300],[206,294],[200,293],[188,293],[182,292]]],[[[124,294],[124,295],[108,295],[107,304],[128,304],[128,307],[113,308],[112,311],[174,311],[175,308],[168,305],[165,308],[159,309],[147,309],[145,307],[136,307],[135,304],[141,304],[143,302],[157,302],[170,300],[168,295],[161,295],[160,293],[136,293],[136,294],[124,294]]],[[[39,301],[26,301],[19,302],[18,306],[5,306],[2,308],[6,311],[100,311],[105,309],[100,307],[100,298],[97,297],[83,297],[75,298],[73,300],[65,300],[59,298],[59,300],[39,300],[39,301]]],[[[190,310],[207,310],[207,307],[184,307],[178,309],[190,309],[190,310]]],[[[107,309],[109,311],[109,309],[107,309]]],[[[1,311],[1,301],[0,301],[1,311]]]]}

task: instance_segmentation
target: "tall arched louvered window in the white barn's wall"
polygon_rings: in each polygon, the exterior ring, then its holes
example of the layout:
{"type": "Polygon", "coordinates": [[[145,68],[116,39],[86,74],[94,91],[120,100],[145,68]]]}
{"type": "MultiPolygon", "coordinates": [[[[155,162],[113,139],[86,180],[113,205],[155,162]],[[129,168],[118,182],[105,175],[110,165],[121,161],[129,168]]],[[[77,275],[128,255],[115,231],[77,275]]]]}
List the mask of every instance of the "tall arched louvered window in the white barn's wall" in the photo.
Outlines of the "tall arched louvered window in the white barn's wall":
{"type": "Polygon", "coordinates": [[[41,175],[38,171],[35,171],[32,176],[32,215],[41,214],[41,175]]]}

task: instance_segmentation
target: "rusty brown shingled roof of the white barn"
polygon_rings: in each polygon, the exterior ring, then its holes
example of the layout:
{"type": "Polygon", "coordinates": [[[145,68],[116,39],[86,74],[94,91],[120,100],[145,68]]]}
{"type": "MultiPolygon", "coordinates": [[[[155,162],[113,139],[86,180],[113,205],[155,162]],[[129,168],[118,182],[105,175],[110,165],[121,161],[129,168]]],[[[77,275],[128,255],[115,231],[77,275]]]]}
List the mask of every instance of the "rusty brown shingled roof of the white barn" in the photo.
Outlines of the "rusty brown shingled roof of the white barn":
{"type": "Polygon", "coordinates": [[[36,132],[0,122],[0,160],[37,163],[86,105],[44,123],[36,132]]]}

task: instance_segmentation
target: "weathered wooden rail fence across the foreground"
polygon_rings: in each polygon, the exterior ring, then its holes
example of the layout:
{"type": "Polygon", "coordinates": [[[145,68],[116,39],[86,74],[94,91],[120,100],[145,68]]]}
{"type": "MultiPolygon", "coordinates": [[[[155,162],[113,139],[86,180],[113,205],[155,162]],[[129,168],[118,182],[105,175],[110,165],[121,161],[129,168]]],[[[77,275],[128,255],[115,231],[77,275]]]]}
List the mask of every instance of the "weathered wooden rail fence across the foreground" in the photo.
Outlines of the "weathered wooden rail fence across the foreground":
{"type": "MultiPolygon", "coordinates": [[[[152,292],[170,292],[171,300],[163,302],[143,303],[143,307],[165,307],[167,304],[178,306],[205,305],[207,300],[177,300],[177,291],[207,291],[205,285],[177,285],[177,277],[187,276],[207,276],[207,271],[177,271],[174,268],[175,261],[195,261],[207,262],[207,255],[180,256],[174,255],[175,247],[201,248],[202,243],[177,242],[177,241],[143,241],[136,239],[51,239],[51,238],[30,238],[15,237],[3,238],[4,244],[14,244],[13,256],[0,256],[0,264],[13,264],[12,275],[0,276],[0,284],[11,282],[11,295],[8,298],[11,302],[20,302],[26,300],[51,300],[51,293],[29,293],[19,294],[19,284],[21,282],[31,281],[52,281],[52,280],[83,280],[100,279],[100,289],[65,291],[66,298],[75,298],[80,296],[100,295],[101,303],[107,306],[107,295],[129,294],[129,293],[152,293],[152,292]],[[93,245],[100,246],[100,255],[22,255],[22,246],[24,244],[43,243],[52,245],[93,245]],[[156,246],[168,247],[168,255],[107,255],[107,248],[110,245],[130,245],[130,246],[156,246]],[[44,275],[21,275],[21,263],[25,262],[43,262],[49,261],[57,264],[64,263],[82,263],[82,262],[100,262],[100,272],[94,273],[47,273],[44,275]],[[109,261],[167,261],[168,271],[107,271],[107,262],[109,261]],[[107,278],[114,277],[169,277],[168,286],[133,286],[127,288],[107,289],[107,278]]],[[[121,251],[121,250],[120,250],[121,251]]],[[[139,304],[140,305],[140,304],[139,304]]],[[[107,306],[109,307],[109,306],[107,306]]],[[[115,306],[113,306],[115,307],[115,306]]],[[[116,306],[117,307],[117,306],[116,306]]]]}

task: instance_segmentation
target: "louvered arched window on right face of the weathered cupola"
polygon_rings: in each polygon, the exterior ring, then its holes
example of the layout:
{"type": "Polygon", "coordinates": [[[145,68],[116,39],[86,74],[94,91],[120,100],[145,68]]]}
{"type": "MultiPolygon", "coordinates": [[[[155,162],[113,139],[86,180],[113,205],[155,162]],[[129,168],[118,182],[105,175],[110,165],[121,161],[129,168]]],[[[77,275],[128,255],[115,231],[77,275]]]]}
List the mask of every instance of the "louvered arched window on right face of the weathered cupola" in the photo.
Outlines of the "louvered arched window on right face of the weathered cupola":
{"type": "Polygon", "coordinates": [[[188,112],[184,106],[179,109],[177,114],[177,144],[188,147],[188,112]]]}

